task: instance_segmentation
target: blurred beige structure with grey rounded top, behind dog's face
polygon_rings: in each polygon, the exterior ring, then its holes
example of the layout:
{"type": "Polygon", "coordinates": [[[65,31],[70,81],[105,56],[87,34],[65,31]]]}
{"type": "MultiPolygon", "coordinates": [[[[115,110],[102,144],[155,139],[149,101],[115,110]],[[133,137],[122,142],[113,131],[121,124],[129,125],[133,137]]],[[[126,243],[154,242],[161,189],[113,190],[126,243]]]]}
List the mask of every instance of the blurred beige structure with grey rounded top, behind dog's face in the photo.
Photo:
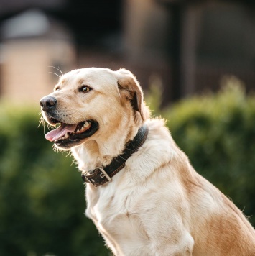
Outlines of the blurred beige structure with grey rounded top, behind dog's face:
{"type": "Polygon", "coordinates": [[[39,101],[61,75],[60,70],[52,67],[66,70],[76,67],[72,36],[61,24],[50,22],[35,9],[2,24],[2,98],[39,101]]]}

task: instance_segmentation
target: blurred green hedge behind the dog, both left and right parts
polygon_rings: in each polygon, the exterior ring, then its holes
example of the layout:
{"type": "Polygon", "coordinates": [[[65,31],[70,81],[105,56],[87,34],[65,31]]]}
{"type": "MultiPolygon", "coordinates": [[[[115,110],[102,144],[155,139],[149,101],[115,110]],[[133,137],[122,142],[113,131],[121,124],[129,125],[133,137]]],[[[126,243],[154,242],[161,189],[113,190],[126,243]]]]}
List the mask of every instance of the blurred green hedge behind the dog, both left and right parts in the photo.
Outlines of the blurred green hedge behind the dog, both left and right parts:
{"type": "MultiPolygon", "coordinates": [[[[198,173],[255,213],[255,97],[240,86],[159,111],[198,173]]],[[[157,97],[155,97],[157,96],[157,97]]],[[[39,107],[0,104],[0,255],[109,255],[84,216],[84,186],[73,158],[52,152],[39,107]],[[73,164],[72,164],[73,163],[73,164]]],[[[250,219],[255,224],[252,216],[250,219]]]]}

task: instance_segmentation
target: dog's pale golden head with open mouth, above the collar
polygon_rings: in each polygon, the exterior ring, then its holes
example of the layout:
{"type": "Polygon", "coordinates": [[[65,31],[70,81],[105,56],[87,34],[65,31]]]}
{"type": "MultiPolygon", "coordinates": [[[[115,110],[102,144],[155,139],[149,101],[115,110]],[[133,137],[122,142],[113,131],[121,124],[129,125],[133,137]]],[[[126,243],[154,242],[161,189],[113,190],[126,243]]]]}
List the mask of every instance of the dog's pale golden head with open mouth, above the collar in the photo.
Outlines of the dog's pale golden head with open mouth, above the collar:
{"type": "Polygon", "coordinates": [[[45,137],[61,149],[111,136],[116,129],[128,129],[130,123],[140,127],[149,117],[142,89],[125,69],[83,68],[65,73],[40,105],[50,125],[60,124],[45,137]]]}

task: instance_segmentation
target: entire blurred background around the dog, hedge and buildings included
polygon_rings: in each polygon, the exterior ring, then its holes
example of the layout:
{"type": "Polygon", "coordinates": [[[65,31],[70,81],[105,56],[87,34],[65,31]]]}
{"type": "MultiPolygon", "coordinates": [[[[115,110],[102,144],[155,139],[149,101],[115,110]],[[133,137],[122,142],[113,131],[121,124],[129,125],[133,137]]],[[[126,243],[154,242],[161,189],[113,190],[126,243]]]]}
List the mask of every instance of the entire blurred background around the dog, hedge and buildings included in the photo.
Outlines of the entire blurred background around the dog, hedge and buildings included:
{"type": "Polygon", "coordinates": [[[0,255],[110,255],[72,157],[38,127],[56,68],[91,66],[131,70],[198,173],[255,224],[254,1],[0,0],[0,255]]]}

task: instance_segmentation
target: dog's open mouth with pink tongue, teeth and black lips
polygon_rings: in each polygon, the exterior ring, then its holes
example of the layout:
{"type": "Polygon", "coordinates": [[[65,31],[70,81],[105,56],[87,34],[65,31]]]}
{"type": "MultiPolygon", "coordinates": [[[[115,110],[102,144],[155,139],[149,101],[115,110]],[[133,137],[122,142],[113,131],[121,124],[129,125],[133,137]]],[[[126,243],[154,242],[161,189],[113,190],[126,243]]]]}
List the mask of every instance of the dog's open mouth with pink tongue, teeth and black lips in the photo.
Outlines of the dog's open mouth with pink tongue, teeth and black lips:
{"type": "Polygon", "coordinates": [[[60,126],[45,134],[45,138],[50,142],[55,142],[59,147],[77,145],[80,140],[91,137],[98,130],[98,122],[94,120],[86,120],[78,124],[65,124],[51,118],[50,123],[60,124],[60,126]]]}

